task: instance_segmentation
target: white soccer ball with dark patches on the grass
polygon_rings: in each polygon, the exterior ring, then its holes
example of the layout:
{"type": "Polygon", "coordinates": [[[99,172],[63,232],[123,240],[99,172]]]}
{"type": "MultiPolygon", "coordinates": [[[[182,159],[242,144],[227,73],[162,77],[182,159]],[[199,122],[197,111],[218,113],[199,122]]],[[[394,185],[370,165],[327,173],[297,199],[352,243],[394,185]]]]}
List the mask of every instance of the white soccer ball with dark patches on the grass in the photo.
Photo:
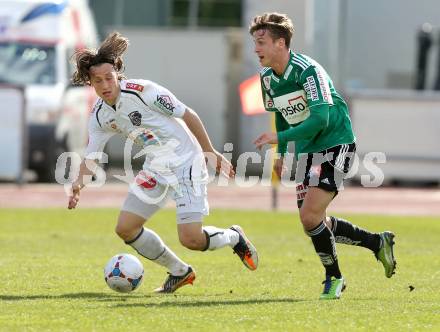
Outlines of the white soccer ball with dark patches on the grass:
{"type": "Polygon", "coordinates": [[[144,277],[144,267],[130,254],[113,256],[104,268],[104,279],[114,291],[129,293],[138,288],[144,277]]]}

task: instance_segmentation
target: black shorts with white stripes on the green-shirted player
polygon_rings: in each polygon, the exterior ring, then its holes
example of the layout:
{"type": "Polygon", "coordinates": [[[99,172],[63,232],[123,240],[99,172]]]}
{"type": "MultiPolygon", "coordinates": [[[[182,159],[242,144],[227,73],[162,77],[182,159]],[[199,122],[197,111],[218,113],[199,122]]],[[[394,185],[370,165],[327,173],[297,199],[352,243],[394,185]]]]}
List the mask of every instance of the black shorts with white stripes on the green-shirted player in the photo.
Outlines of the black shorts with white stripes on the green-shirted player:
{"type": "Polygon", "coordinates": [[[356,143],[336,145],[330,149],[300,155],[296,166],[296,195],[300,208],[308,187],[318,187],[338,194],[350,170],[356,143]]]}

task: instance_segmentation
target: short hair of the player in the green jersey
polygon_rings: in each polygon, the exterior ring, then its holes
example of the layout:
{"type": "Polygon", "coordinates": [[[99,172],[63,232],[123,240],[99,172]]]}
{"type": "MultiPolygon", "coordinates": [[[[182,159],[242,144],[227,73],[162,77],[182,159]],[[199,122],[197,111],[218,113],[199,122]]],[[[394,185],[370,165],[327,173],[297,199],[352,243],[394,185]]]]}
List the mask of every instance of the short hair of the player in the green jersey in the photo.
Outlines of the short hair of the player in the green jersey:
{"type": "Polygon", "coordinates": [[[249,26],[249,33],[253,35],[255,31],[261,29],[269,31],[273,40],[283,38],[286,47],[290,47],[290,40],[295,30],[291,19],[286,14],[264,13],[255,16],[249,26]]]}

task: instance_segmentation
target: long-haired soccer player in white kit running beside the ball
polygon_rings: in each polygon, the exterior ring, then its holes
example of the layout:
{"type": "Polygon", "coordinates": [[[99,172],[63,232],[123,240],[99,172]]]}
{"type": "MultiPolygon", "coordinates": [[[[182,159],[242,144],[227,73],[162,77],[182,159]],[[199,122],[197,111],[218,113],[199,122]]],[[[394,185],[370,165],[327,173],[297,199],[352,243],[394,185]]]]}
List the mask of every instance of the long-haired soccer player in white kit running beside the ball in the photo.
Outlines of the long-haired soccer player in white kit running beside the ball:
{"type": "Polygon", "coordinates": [[[213,148],[198,115],[170,91],[151,81],[125,79],[122,55],[127,47],[128,40],[113,33],[97,51],[83,49],[75,54],[73,82],[91,85],[99,98],[68,208],[77,206],[84,179],[94,173],[87,165],[93,161],[96,166],[96,152],[103,151],[112,135],[120,134],[142,148],[145,162],[130,184],[115,231],[140,255],[168,269],[169,276],[156,291],[172,293],[195,279],[194,269],[144,227],[169,197],[176,202],[177,231],[183,246],[200,251],[230,246],[247,268],[255,270],[257,251],[240,226],[202,226],[203,217],[209,214],[204,153],[214,156],[216,169],[229,177],[234,176],[232,165],[213,148]]]}

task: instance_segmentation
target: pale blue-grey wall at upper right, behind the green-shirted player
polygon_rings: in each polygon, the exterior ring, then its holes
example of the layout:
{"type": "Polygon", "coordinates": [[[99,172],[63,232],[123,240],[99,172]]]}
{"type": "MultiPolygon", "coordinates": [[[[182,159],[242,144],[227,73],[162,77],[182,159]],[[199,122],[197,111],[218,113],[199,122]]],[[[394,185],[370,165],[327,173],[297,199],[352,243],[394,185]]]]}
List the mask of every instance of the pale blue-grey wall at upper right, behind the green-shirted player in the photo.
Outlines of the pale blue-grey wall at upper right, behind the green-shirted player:
{"type": "MultiPolygon", "coordinates": [[[[425,22],[440,27],[438,0],[314,0],[314,3],[312,55],[327,67],[333,78],[343,76],[342,87],[412,87],[417,30],[425,22]],[[338,34],[339,39],[335,40],[338,34]],[[335,56],[340,56],[339,62],[334,61],[335,56]],[[393,74],[401,78],[390,82],[393,74]]],[[[431,52],[429,87],[436,74],[439,29],[434,37],[436,49],[431,52]]]]}

